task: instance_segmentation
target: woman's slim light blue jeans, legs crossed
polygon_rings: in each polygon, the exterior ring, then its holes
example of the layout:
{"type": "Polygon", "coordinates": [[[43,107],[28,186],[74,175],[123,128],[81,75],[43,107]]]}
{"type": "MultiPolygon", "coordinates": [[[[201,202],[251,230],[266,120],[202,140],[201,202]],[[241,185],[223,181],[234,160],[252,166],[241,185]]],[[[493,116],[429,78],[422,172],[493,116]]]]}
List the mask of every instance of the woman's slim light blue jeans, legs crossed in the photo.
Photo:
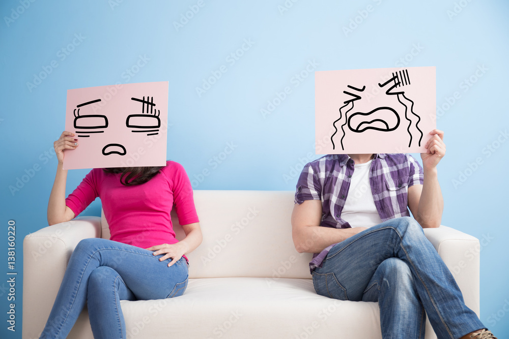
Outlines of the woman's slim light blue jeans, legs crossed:
{"type": "Polygon", "coordinates": [[[94,338],[125,338],[120,300],[180,296],[187,287],[188,267],[180,258],[159,261],[136,246],[101,238],[81,240],[69,259],[41,338],[65,338],[87,303],[94,338]]]}

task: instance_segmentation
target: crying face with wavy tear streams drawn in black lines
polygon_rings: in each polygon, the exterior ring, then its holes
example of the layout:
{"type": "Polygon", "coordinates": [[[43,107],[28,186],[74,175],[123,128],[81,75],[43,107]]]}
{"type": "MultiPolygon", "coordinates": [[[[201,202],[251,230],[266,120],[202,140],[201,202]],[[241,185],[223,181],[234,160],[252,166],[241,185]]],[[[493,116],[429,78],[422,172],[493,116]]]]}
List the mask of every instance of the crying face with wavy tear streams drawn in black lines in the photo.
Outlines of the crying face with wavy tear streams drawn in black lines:
{"type": "MultiPolygon", "coordinates": [[[[405,87],[411,84],[408,70],[392,73],[392,77],[376,86],[379,100],[370,104],[366,85],[347,85],[343,91],[346,100],[339,109],[339,117],[333,122],[334,133],[330,137],[333,149],[345,150],[345,143],[355,134],[366,135],[366,131],[392,132],[400,127],[407,131],[408,147],[414,143],[421,146],[423,133],[419,129],[420,116],[414,111],[414,102],[405,96],[405,87]],[[353,132],[347,133],[347,132],[353,132]]],[[[374,134],[370,134],[373,136],[374,134]]],[[[376,142],[376,140],[374,140],[376,142]]]]}

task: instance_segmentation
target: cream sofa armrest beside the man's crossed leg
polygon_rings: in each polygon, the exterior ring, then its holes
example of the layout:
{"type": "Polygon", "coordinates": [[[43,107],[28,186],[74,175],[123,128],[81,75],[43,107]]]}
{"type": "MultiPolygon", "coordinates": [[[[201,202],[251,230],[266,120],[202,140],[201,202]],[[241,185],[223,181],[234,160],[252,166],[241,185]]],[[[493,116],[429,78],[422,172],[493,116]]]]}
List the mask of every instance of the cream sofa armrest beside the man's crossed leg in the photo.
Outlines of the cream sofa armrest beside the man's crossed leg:
{"type": "Polygon", "coordinates": [[[479,316],[479,240],[443,225],[424,233],[453,273],[465,304],[479,316]]]}

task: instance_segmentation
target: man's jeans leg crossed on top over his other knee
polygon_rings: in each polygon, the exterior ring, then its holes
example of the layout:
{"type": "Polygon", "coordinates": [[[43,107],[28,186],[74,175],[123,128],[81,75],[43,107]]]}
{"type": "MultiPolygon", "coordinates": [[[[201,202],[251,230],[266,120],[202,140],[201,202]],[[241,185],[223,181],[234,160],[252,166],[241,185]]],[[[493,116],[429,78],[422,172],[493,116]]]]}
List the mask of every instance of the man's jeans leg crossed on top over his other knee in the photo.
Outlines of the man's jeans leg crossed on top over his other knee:
{"type": "Polygon", "coordinates": [[[380,264],[389,258],[408,265],[439,338],[457,339],[485,328],[465,305],[453,275],[420,225],[409,217],[388,220],[336,244],[313,274],[315,289],[336,299],[360,301],[380,264]]]}

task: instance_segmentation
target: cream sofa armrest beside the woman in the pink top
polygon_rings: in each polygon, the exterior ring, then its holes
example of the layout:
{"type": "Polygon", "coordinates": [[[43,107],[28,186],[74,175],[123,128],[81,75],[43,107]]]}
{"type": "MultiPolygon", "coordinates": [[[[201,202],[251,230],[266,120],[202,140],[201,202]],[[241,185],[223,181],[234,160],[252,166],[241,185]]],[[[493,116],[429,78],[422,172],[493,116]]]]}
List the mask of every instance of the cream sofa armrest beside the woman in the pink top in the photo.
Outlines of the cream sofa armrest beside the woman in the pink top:
{"type": "Polygon", "coordinates": [[[45,227],[24,238],[23,338],[39,337],[78,242],[100,236],[101,218],[78,217],[45,227]]]}

